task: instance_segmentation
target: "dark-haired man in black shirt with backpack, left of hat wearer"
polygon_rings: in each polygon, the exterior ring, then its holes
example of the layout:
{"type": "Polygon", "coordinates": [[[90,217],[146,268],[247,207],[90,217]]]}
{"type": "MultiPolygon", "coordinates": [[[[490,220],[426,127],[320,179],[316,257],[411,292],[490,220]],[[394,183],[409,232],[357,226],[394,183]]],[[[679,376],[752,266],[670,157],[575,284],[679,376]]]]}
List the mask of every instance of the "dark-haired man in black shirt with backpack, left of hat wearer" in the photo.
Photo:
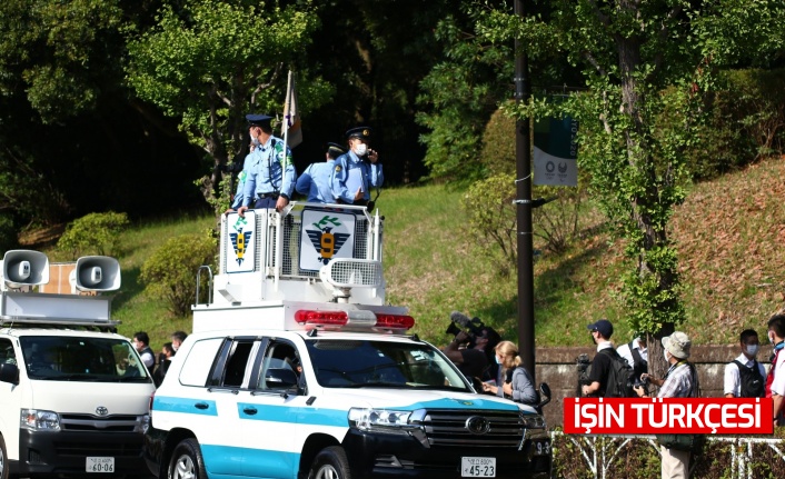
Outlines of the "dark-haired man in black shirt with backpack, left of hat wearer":
{"type": "Polygon", "coordinates": [[[600,319],[587,328],[592,331],[592,340],[597,345],[597,353],[592,360],[588,385],[582,386],[583,395],[600,398],[630,396],[633,391],[629,378],[633,370],[610,342],[614,326],[607,319],[600,319]]]}

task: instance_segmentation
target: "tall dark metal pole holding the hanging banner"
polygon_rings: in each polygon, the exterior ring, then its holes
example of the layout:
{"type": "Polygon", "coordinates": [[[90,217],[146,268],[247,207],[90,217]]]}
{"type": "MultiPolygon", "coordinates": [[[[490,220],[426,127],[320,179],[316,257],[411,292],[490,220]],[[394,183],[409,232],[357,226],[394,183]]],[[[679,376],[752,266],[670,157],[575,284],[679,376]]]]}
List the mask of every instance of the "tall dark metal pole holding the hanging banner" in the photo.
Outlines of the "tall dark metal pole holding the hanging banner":
{"type": "MultiPolygon", "coordinates": [[[[515,0],[515,14],[526,17],[524,0],[515,0]]],[[[529,66],[523,42],[515,40],[515,100],[528,102],[529,66]]],[[[531,238],[531,140],[530,121],[518,119],[515,123],[515,158],[517,170],[516,212],[518,224],[518,349],[524,368],[535,377],[534,355],[534,261],[531,238]]]]}

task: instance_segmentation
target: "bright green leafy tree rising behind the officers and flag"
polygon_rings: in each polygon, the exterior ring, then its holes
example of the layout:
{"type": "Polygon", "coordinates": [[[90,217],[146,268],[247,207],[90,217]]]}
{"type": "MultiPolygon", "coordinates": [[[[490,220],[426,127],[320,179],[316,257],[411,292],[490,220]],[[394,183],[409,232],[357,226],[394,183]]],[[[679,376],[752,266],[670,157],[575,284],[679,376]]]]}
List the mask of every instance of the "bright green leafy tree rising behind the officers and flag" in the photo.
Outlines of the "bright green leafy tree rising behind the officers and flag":
{"type": "MultiPolygon", "coordinates": [[[[139,98],[178,118],[217,167],[225,166],[248,142],[246,113],[282,111],[286,68],[297,66],[318,27],[310,2],[301,8],[256,7],[247,0],[189,0],[179,10],[165,6],[157,26],[128,42],[128,82],[139,98]]],[[[307,111],[332,92],[319,77],[300,73],[298,94],[307,111]]],[[[213,170],[208,190],[218,184],[219,171],[213,170]]]]}

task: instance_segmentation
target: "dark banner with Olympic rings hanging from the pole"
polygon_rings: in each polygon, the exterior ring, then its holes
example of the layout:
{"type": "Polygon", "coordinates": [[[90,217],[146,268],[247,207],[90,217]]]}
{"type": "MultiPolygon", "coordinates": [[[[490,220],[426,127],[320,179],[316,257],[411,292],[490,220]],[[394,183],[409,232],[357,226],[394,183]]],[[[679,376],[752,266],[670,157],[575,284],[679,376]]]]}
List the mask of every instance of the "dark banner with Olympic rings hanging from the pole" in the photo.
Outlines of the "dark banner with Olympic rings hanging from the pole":
{"type": "Polygon", "coordinates": [[[578,186],[578,121],[545,118],[534,126],[534,183],[578,186]]]}

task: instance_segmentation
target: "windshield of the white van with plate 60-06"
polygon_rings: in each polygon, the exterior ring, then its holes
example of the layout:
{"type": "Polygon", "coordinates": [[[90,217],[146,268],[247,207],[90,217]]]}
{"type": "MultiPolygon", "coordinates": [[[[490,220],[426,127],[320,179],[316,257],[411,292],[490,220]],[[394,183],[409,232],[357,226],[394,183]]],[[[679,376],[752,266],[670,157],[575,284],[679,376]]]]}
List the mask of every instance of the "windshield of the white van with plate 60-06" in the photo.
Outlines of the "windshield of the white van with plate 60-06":
{"type": "Polygon", "coordinates": [[[113,338],[23,336],[19,338],[31,379],[149,382],[130,342],[113,338]]]}

